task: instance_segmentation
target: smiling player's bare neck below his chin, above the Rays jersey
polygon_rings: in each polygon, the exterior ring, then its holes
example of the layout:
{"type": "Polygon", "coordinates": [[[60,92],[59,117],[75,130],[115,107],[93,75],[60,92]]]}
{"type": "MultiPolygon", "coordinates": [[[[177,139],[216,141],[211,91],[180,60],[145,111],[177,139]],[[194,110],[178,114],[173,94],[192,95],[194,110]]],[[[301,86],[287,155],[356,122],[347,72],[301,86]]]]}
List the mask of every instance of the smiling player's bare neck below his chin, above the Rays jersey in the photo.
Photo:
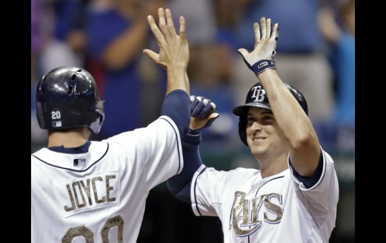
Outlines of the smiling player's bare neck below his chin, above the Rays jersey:
{"type": "Polygon", "coordinates": [[[261,177],[265,178],[271,175],[276,175],[288,169],[287,156],[288,153],[282,153],[274,158],[265,158],[263,156],[256,158],[260,163],[261,177]]]}

